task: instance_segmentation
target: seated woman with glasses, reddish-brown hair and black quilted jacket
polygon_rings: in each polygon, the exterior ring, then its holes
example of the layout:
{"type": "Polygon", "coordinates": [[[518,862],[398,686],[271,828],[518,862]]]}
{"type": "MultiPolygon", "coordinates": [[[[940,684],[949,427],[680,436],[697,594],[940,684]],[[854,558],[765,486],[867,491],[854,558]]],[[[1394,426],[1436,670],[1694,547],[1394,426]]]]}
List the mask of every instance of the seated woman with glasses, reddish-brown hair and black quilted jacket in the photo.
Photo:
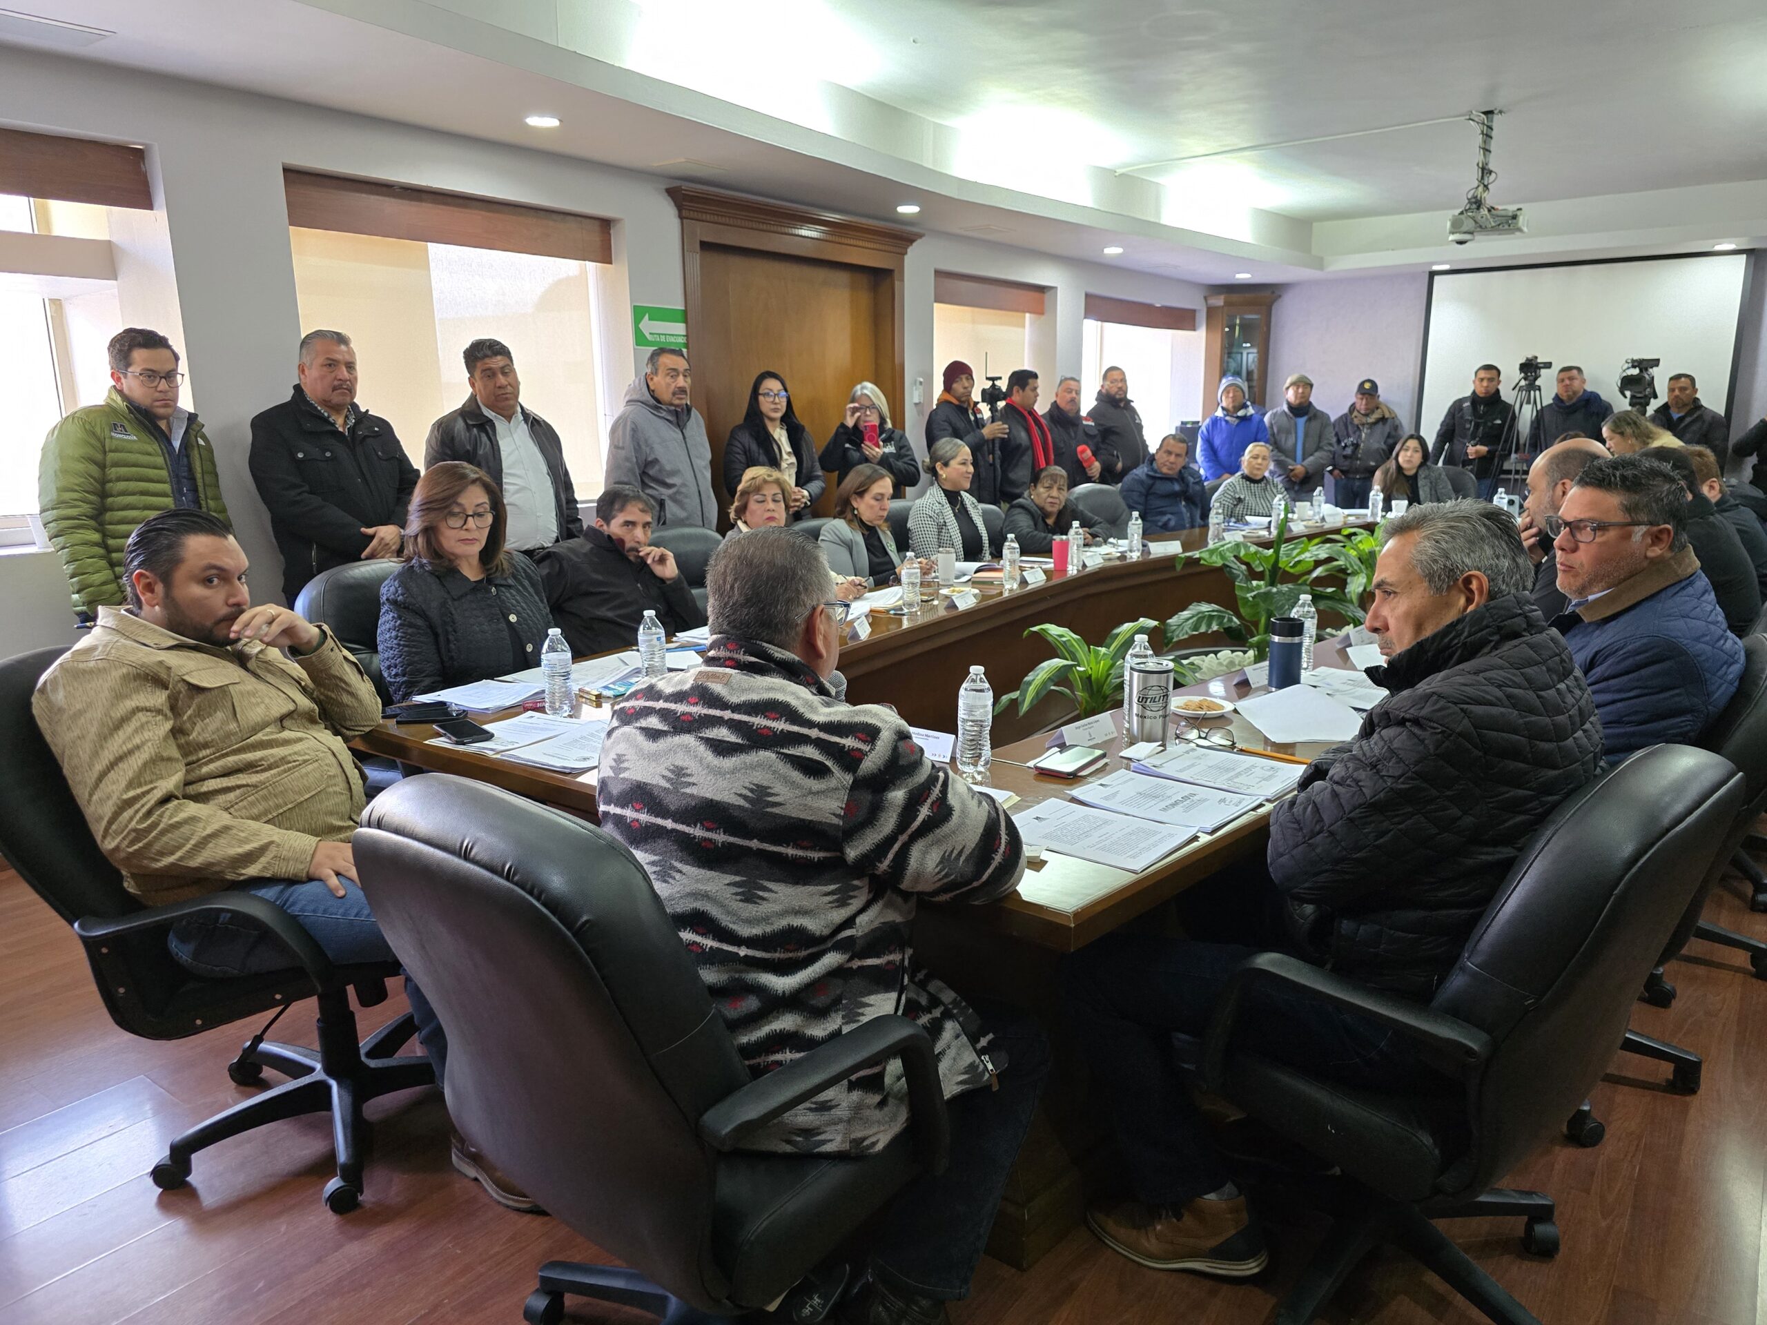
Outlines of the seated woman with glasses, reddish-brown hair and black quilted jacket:
{"type": "Polygon", "coordinates": [[[504,546],[505,525],[484,470],[445,459],[417,481],[405,565],[380,587],[380,675],[394,701],[541,664],[546,590],[504,546]]]}

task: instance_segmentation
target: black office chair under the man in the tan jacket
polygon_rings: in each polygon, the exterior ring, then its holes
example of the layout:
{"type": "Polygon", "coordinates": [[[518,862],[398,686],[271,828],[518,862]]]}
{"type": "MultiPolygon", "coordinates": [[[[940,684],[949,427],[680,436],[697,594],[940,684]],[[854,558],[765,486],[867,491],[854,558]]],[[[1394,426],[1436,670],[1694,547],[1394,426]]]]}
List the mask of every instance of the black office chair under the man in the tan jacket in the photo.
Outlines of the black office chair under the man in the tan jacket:
{"type": "Polygon", "coordinates": [[[355,986],[362,1007],[385,1002],[387,977],[399,973],[398,965],[334,966],[299,920],[249,894],[216,894],[168,906],[136,901],[92,839],[30,712],[37,678],[60,654],[60,648],[39,648],[0,662],[0,749],[7,753],[0,760],[0,853],[74,928],[111,1021],[131,1035],[177,1041],[260,1012],[274,1011],[279,1018],[302,998],[316,996],[320,1007],[318,1049],[265,1044],[269,1025],[253,1035],[228,1064],[228,1076],[242,1086],[256,1085],[270,1067],[290,1079],[175,1138],[166,1157],[154,1164],[154,1185],[182,1187],[191,1175],[191,1155],[216,1141],[279,1118],[330,1113],[337,1177],[325,1187],[325,1205],[336,1214],[353,1210],[362,1196],[368,1138],[362,1106],[389,1092],[435,1081],[428,1058],[392,1056],[417,1030],[410,1012],[357,1046],[350,988],[355,986]],[[166,931],[187,915],[214,912],[228,912],[274,935],[290,954],[290,970],[230,980],[200,979],[184,970],[166,949],[166,931]]]}

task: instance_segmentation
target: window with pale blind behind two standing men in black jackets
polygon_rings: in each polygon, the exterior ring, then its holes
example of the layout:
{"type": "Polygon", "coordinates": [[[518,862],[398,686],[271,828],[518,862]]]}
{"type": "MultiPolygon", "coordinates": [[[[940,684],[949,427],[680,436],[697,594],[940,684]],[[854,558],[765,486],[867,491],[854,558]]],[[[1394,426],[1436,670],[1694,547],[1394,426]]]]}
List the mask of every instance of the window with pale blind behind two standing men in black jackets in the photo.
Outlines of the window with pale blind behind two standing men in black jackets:
{"type": "Polygon", "coordinates": [[[290,228],[300,329],[345,332],[364,408],[422,468],[429,424],[468,396],[461,352],[509,346],[521,403],[558,429],[580,502],[601,491],[594,265],[454,244],[290,228]]]}

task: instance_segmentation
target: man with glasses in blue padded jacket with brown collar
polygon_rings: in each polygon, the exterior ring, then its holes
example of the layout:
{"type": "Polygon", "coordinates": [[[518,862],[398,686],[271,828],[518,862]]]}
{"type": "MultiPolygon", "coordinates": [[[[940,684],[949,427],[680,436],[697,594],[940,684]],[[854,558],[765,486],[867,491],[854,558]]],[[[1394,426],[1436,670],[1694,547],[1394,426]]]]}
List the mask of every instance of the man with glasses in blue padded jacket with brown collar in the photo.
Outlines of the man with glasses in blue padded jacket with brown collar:
{"type": "Polygon", "coordinates": [[[1601,712],[1610,763],[1693,742],[1730,703],[1742,645],[1687,544],[1687,493],[1665,466],[1597,459],[1544,521],[1569,599],[1553,622],[1601,712]]]}

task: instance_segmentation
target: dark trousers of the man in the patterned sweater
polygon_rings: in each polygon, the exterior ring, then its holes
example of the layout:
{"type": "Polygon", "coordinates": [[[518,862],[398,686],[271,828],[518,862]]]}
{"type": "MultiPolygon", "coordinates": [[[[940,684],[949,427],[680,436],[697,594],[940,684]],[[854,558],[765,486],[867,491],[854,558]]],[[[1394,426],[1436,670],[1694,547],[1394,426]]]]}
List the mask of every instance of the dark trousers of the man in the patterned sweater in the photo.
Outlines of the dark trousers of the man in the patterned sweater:
{"type": "Polygon", "coordinates": [[[956,1302],[968,1297],[1000,1194],[1050,1076],[1050,1042],[1023,1012],[972,1000],[1005,1056],[998,1090],[968,1090],[945,1102],[951,1164],[922,1173],[891,1205],[871,1246],[871,1276],[899,1295],[956,1302]]]}

